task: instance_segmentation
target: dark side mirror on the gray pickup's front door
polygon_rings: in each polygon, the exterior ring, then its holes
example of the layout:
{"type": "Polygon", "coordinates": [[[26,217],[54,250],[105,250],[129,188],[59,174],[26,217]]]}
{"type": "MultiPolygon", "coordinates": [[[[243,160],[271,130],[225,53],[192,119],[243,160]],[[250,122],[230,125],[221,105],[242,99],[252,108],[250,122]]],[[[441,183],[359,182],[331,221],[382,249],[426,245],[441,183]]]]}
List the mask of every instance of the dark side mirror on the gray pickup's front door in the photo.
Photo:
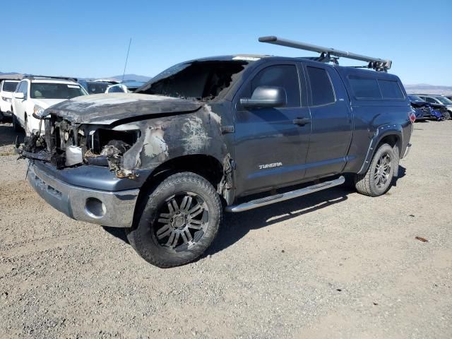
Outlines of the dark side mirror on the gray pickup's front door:
{"type": "Polygon", "coordinates": [[[242,98],[240,104],[246,108],[273,108],[287,105],[285,89],[276,86],[259,86],[251,95],[251,99],[242,98]]]}

